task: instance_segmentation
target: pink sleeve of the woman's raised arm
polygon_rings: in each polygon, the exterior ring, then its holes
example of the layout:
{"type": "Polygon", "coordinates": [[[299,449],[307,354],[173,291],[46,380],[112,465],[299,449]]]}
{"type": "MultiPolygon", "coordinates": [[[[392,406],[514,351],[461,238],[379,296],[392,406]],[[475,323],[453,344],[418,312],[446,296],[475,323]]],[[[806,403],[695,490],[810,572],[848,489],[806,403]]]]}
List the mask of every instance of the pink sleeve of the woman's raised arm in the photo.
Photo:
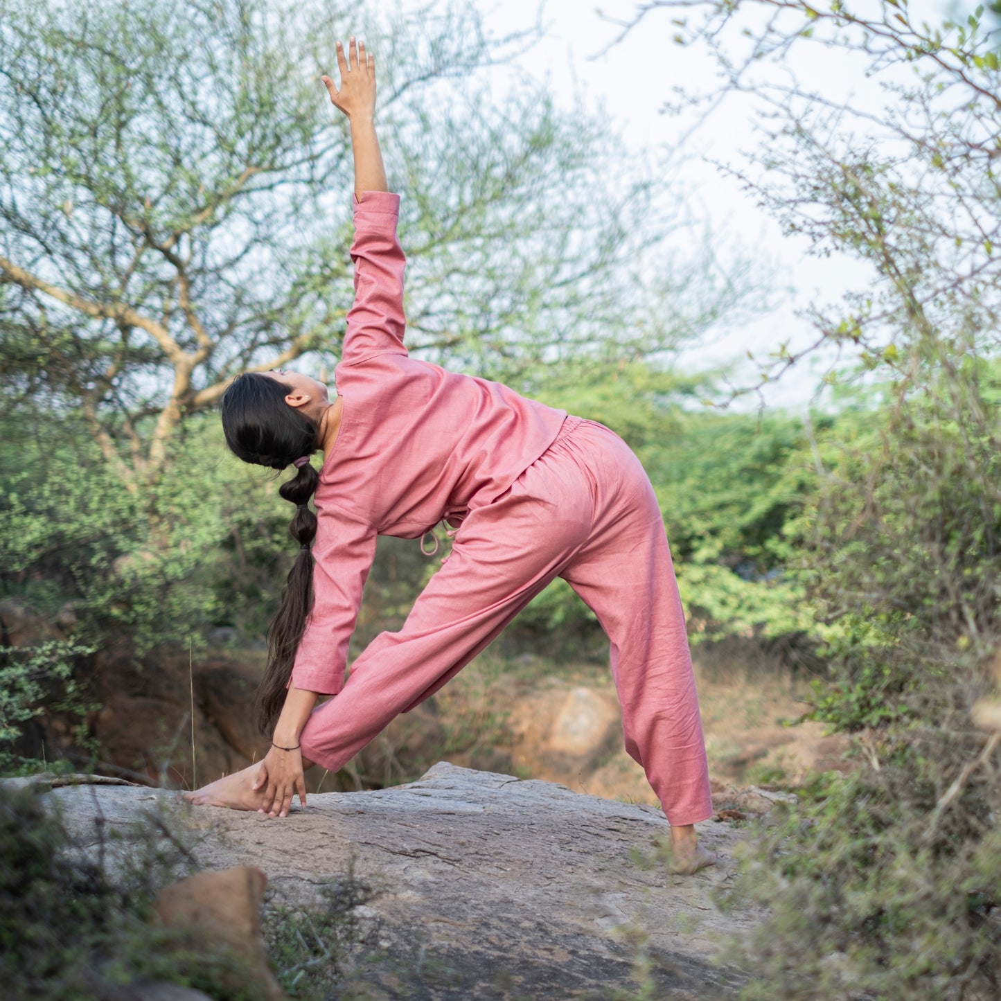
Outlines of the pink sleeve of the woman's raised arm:
{"type": "Polygon", "coordinates": [[[341,364],[373,354],[405,354],[403,266],[396,238],[399,195],[365,191],[354,198],[354,303],[347,313],[341,364]]]}

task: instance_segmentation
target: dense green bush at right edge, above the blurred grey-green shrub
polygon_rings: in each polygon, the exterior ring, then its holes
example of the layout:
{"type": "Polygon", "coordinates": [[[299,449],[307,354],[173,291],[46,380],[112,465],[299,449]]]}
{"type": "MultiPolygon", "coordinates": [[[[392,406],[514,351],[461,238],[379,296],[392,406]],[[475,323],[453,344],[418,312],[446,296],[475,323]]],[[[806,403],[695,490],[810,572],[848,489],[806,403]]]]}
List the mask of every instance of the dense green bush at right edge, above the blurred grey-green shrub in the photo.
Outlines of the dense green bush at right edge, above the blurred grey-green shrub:
{"type": "Polygon", "coordinates": [[[997,643],[1001,367],[964,368],[827,456],[806,580],[838,666],[815,715],[838,729],[906,717],[927,682],[976,689],[997,643]]]}

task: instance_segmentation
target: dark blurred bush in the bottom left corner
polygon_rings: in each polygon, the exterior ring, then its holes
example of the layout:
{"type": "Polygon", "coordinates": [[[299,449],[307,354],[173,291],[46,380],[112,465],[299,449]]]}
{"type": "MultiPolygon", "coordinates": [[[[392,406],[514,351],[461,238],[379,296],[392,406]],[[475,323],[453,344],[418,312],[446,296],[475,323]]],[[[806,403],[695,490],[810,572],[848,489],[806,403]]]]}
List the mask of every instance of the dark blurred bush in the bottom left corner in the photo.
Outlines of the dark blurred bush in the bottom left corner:
{"type": "Polygon", "coordinates": [[[59,818],[30,790],[0,785],[0,946],[5,996],[117,998],[152,977],[233,1001],[255,1001],[235,957],[206,956],[191,933],[147,924],[179,861],[150,825],[115,878],[102,844],[73,850],[59,818]],[[166,850],[165,850],[166,847],[166,850]]]}

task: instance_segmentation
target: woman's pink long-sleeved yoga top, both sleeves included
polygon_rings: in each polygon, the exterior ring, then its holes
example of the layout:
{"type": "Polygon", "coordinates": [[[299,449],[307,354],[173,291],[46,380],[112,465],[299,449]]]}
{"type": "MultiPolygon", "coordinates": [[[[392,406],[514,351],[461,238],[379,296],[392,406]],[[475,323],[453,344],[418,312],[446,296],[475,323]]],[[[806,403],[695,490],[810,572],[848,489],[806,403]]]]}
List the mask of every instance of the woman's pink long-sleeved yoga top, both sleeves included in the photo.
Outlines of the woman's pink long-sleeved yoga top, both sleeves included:
{"type": "Polygon", "coordinates": [[[354,199],[354,303],[335,369],[343,409],[314,502],[313,611],[296,688],[336,694],[376,536],[417,539],[489,504],[553,443],[565,410],[446,371],[403,346],[399,196],[354,199]]]}

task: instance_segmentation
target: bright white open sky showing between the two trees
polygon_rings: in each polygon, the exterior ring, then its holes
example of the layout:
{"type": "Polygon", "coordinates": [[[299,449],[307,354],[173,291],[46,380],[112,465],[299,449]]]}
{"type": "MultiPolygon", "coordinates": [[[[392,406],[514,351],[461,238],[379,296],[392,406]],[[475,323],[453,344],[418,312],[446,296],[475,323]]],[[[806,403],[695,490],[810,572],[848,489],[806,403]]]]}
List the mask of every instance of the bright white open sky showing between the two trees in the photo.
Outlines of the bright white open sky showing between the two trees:
{"type": "MultiPolygon", "coordinates": [[[[540,12],[538,0],[471,2],[498,34],[530,27],[540,12]]],[[[934,0],[912,0],[912,10],[919,3],[933,19],[934,0]]],[[[412,4],[403,0],[402,6],[412,4]]],[[[721,245],[750,253],[772,271],[769,283],[776,307],[683,351],[680,363],[706,368],[746,358],[749,350],[761,356],[786,338],[791,349],[812,340],[815,334],[799,311],[810,302],[835,302],[847,289],[865,287],[870,280],[866,265],[844,257],[808,255],[802,238],[783,235],[752,194],[707,163],[707,158],[737,167],[748,162],[743,151],[757,146],[759,139],[751,127],[753,108],[747,102],[725,103],[694,135],[689,133],[689,122],[664,113],[675,86],[698,90],[712,86],[713,80],[713,64],[704,52],[672,42],[677,30],[670,22],[673,15],[655,11],[640,29],[616,42],[621,29],[609,17],[628,17],[637,5],[633,0],[605,0],[602,6],[606,17],[593,0],[547,0],[542,7],[544,37],[524,57],[526,71],[548,80],[558,100],[569,103],[583,96],[590,108],[625,135],[631,148],[655,156],[680,148],[685,155],[678,183],[696,224],[710,225],[721,245]]],[[[796,58],[799,64],[793,68],[804,78],[829,80],[874,106],[882,99],[877,85],[861,71],[862,64],[853,65],[843,53],[803,46],[796,58]]],[[[787,372],[778,384],[766,388],[766,401],[798,406],[810,400],[822,362],[818,358],[817,363],[787,372]]],[[[745,367],[743,381],[750,377],[745,367]]],[[[757,399],[748,402],[758,404],[757,399]]]]}

